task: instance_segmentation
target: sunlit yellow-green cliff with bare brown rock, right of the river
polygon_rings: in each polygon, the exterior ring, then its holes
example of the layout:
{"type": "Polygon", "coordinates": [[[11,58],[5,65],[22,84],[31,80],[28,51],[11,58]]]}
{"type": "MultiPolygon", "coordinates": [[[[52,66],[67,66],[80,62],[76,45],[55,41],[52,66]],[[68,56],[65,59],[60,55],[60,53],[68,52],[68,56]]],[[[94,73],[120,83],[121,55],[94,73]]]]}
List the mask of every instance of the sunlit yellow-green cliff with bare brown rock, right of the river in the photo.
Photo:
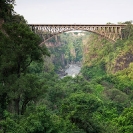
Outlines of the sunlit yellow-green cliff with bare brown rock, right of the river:
{"type": "Polygon", "coordinates": [[[104,64],[107,73],[127,69],[133,62],[133,40],[108,42],[97,35],[90,35],[83,45],[84,66],[104,64]]]}

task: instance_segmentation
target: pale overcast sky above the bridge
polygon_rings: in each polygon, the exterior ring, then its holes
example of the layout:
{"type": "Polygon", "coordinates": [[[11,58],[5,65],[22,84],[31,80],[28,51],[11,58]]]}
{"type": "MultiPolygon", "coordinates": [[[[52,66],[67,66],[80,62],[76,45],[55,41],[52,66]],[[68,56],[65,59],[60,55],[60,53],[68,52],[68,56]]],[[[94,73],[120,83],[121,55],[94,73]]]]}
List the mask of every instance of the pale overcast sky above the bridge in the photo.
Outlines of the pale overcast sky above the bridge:
{"type": "Polygon", "coordinates": [[[117,24],[133,20],[133,0],[16,0],[28,24],[117,24]]]}

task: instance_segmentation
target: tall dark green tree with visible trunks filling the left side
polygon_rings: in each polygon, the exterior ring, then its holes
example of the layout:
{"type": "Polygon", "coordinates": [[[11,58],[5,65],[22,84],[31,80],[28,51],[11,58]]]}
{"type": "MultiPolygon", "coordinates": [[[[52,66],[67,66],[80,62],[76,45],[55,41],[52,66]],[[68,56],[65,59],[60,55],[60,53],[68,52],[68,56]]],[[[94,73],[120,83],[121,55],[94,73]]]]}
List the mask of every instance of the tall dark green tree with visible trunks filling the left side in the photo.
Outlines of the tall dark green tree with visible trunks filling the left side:
{"type": "MultiPolygon", "coordinates": [[[[10,2],[13,1],[3,4],[9,6],[10,2]]],[[[19,15],[17,17],[22,18],[19,15]]],[[[41,62],[42,55],[49,54],[46,47],[39,47],[40,38],[30,30],[25,21],[21,20],[17,19],[20,23],[14,20],[4,23],[0,31],[1,114],[10,106],[12,108],[8,110],[11,112],[24,113],[27,103],[33,100],[34,93],[36,95],[40,85],[36,76],[26,74],[28,67],[32,61],[41,62]],[[32,84],[33,82],[35,84],[32,84]],[[28,94],[28,91],[33,92],[31,96],[30,94],[24,96],[24,93],[28,94]]]]}

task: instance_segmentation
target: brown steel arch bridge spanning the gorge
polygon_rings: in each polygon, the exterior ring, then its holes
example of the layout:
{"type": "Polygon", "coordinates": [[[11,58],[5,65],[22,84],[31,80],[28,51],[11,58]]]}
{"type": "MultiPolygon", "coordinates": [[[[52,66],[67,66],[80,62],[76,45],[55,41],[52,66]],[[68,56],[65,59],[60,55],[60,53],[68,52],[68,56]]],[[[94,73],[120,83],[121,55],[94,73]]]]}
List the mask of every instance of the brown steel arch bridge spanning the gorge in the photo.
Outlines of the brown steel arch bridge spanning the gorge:
{"type": "Polygon", "coordinates": [[[50,38],[68,31],[88,31],[100,35],[107,40],[115,42],[122,39],[122,29],[125,24],[29,24],[31,30],[39,34],[45,43],[50,38]]]}

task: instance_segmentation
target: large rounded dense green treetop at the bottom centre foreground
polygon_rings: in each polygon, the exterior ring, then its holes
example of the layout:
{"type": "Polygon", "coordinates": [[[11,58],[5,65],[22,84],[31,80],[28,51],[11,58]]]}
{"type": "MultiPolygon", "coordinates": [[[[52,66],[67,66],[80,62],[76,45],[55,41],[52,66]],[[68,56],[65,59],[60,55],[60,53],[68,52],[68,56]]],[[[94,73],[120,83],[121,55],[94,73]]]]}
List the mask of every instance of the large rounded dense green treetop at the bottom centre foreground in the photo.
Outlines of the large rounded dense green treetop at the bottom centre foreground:
{"type": "Polygon", "coordinates": [[[84,132],[100,133],[101,127],[94,114],[101,105],[101,101],[92,94],[73,93],[64,100],[61,112],[65,118],[84,132]]]}

